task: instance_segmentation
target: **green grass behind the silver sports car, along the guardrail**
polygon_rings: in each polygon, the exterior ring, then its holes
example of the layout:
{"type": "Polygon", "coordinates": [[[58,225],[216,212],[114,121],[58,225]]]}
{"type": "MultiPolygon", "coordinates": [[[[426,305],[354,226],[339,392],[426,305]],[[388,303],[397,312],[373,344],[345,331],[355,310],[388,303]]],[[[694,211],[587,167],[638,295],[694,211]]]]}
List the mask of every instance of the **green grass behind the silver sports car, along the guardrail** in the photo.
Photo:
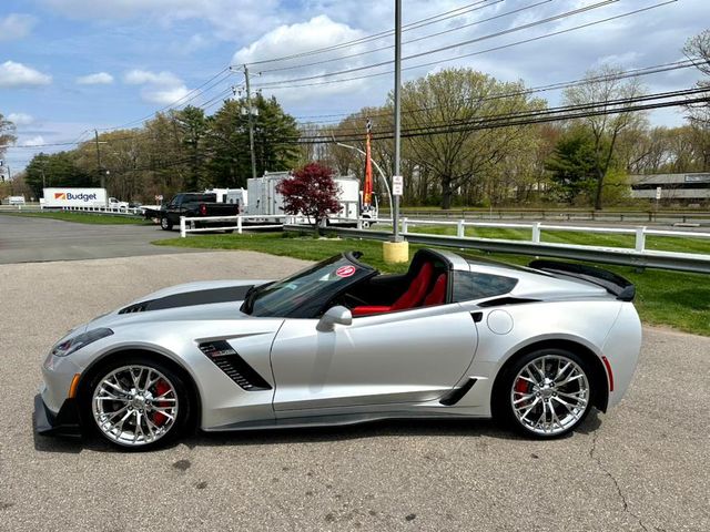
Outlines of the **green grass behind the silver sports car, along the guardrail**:
{"type": "MultiPolygon", "coordinates": [[[[570,235],[582,238],[599,236],[570,235]]],[[[581,242],[588,241],[582,239],[581,242]]],[[[203,249],[248,249],[306,260],[320,260],[336,253],[357,249],[364,253],[363,262],[382,272],[395,273],[406,269],[406,265],[394,267],[386,265],[382,258],[382,242],[375,241],[315,239],[310,236],[293,237],[283,236],[281,233],[263,233],[201,235],[159,241],[154,244],[203,249]]],[[[423,246],[409,245],[410,255],[419,247],[423,246]]],[[[475,250],[465,253],[515,264],[527,264],[531,260],[531,257],[517,255],[489,255],[475,250]]],[[[630,267],[599,266],[616,272],[636,284],[636,306],[645,324],[669,326],[688,332],[710,336],[710,277],[701,274],[651,269],[638,273],[630,267]]]]}

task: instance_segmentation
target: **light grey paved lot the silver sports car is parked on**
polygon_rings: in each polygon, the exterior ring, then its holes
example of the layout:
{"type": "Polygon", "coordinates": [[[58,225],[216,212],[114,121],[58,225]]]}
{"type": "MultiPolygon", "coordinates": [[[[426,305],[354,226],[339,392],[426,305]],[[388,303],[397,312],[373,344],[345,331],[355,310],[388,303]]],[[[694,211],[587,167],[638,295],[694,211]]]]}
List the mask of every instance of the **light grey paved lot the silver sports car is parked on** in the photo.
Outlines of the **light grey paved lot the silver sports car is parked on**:
{"type": "Polygon", "coordinates": [[[33,436],[40,364],[73,325],[175,283],[303,264],[0,265],[0,530],[710,530],[710,338],[659,329],[621,406],[559,441],[489,421],[197,434],[152,453],[33,436]]]}

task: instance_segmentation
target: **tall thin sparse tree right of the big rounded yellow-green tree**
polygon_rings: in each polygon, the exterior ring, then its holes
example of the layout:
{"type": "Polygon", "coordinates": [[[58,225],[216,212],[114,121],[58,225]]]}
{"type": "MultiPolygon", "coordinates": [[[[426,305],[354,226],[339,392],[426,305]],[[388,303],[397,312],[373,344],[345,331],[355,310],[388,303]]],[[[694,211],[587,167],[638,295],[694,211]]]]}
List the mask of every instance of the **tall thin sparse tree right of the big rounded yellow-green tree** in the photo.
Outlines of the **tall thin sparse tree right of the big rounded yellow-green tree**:
{"type": "MultiPolygon", "coordinates": [[[[598,70],[588,71],[585,83],[570,86],[565,91],[565,103],[568,105],[596,104],[592,111],[606,111],[611,101],[637,98],[646,92],[637,78],[625,80],[621,78],[622,73],[621,68],[608,64],[598,70]]],[[[594,139],[597,182],[595,208],[599,209],[602,203],[604,180],[611,166],[619,136],[625,130],[646,127],[646,114],[621,111],[577,120],[589,129],[594,139]]]]}

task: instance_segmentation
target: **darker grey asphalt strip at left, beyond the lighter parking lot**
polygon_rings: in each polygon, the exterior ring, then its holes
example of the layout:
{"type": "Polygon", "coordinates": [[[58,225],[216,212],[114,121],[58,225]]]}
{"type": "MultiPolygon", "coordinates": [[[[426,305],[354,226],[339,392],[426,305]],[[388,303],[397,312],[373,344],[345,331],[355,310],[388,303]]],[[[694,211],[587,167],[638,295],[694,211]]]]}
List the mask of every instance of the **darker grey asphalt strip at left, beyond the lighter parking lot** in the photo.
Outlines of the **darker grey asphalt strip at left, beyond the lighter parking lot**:
{"type": "Polygon", "coordinates": [[[189,253],[153,246],[180,236],[158,225],[92,225],[29,216],[0,215],[0,264],[189,253]]]}

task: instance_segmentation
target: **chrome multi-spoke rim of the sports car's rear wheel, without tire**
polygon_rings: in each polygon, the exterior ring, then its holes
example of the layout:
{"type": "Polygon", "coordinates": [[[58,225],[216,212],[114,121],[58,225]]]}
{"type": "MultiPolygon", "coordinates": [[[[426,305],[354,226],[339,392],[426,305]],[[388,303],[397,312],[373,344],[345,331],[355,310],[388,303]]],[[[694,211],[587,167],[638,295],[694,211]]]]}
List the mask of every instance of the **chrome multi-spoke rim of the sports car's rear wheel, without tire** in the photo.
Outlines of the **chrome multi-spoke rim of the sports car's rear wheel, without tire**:
{"type": "Polygon", "coordinates": [[[510,401],[518,422],[541,436],[555,436],[579,422],[589,408],[589,379],[567,357],[544,355],[513,380],[510,401]]]}

